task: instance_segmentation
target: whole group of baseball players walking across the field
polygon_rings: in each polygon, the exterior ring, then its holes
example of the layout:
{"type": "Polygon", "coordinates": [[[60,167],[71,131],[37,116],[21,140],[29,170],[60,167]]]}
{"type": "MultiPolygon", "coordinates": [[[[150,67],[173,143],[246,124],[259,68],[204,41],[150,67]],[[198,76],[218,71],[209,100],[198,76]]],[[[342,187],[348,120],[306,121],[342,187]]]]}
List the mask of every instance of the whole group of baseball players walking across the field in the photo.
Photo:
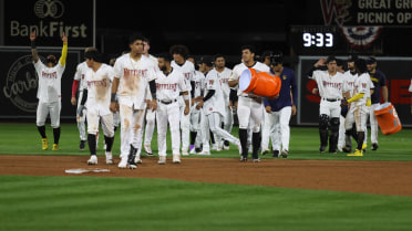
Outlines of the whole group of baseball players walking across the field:
{"type": "MultiPolygon", "coordinates": [[[[37,55],[35,31],[31,33],[30,40],[39,75],[37,125],[42,136],[42,148],[48,149],[44,122],[50,114],[54,135],[53,149],[59,149],[60,81],[65,66],[68,38],[64,35],[62,38],[63,50],[60,61],[56,62],[54,56],[49,59],[49,55],[45,64],[42,64],[37,55]]],[[[142,162],[142,145],[146,155],[153,155],[151,143],[155,124],[159,165],[166,164],[167,125],[172,139],[172,161],[175,164],[181,162],[181,153],[209,155],[210,149],[228,149],[229,143],[238,148],[241,161],[247,161],[248,153],[251,150],[253,161],[258,162],[259,154],[270,151],[269,137],[272,141],[272,156],[288,157],[289,120],[291,115],[296,114],[298,95],[295,72],[282,65],[280,52],[265,52],[261,56],[262,62],[258,62],[255,60],[254,46],[245,45],[241,48],[241,63],[233,70],[225,66],[224,55],[215,55],[213,61],[204,61],[199,65],[199,71],[196,71],[194,59],[188,56],[188,50],[184,45],[174,45],[169,52],[161,53],[157,59],[148,54],[148,40],[140,34],[133,34],[128,45],[130,52],[113,60],[111,62],[113,66],[103,63],[103,55],[94,48],[85,50],[85,61],[78,65],[71,102],[78,105],[80,149],[84,149],[85,143],[90,148],[89,165],[97,164],[96,140],[100,125],[104,134],[106,164],[113,164],[112,147],[119,124],[121,126],[119,168],[136,168],[136,164],[142,162]],[[279,95],[262,98],[238,90],[239,77],[247,69],[271,72],[279,76],[281,78],[279,95]],[[234,108],[237,109],[239,120],[239,138],[230,134],[234,108]],[[84,117],[87,120],[87,136],[84,117]],[[214,140],[212,148],[210,139],[214,140]]],[[[328,127],[331,129],[329,151],[337,151],[340,99],[344,95],[348,98],[346,102],[350,105],[344,120],[346,149],[351,148],[350,135],[356,135],[358,144],[361,145],[358,145],[353,155],[360,156],[365,137],[371,78],[364,60],[357,60],[353,69],[348,62],[350,69],[348,75],[337,72],[336,61],[333,56],[320,60],[308,73],[308,76],[317,81],[322,98],[319,118],[320,153],[327,147],[328,127]],[[315,70],[323,65],[327,65],[328,70],[315,70]],[[357,133],[351,132],[353,122],[350,120],[353,118],[357,133]]],[[[372,139],[372,143],[378,148],[378,140],[374,143],[372,139]]]]}

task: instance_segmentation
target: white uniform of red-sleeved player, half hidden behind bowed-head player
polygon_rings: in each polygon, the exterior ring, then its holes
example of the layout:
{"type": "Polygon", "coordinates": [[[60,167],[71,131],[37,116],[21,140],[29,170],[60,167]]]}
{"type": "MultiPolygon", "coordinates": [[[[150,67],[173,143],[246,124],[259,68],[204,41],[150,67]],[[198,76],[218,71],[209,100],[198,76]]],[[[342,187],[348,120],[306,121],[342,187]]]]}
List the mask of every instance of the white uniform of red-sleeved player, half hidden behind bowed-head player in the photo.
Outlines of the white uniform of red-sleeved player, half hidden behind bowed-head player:
{"type": "MultiPolygon", "coordinates": [[[[83,90],[86,88],[85,81],[84,81],[84,74],[89,70],[90,70],[90,67],[87,66],[85,61],[82,62],[82,63],[79,63],[76,69],[75,69],[75,73],[74,73],[73,78],[79,81],[79,97],[78,97],[78,109],[76,109],[76,112],[79,112],[80,103],[82,102],[82,98],[83,98],[83,90]]],[[[84,123],[85,122],[85,116],[86,116],[86,109],[85,108],[83,109],[83,115],[82,116],[76,115],[78,129],[79,129],[81,140],[86,140],[87,139],[87,137],[85,135],[85,123],[84,123]]]]}

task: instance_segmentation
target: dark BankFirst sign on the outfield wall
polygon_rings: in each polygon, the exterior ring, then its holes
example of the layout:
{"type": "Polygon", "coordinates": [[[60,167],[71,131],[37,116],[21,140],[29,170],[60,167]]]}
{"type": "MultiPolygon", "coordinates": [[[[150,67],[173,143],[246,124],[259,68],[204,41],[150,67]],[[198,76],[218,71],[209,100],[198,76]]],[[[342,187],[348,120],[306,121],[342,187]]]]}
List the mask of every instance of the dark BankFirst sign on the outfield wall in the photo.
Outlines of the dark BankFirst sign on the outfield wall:
{"type": "Polygon", "coordinates": [[[6,0],[4,45],[30,45],[37,31],[38,46],[61,46],[63,32],[71,48],[94,46],[94,0],[6,0]]]}

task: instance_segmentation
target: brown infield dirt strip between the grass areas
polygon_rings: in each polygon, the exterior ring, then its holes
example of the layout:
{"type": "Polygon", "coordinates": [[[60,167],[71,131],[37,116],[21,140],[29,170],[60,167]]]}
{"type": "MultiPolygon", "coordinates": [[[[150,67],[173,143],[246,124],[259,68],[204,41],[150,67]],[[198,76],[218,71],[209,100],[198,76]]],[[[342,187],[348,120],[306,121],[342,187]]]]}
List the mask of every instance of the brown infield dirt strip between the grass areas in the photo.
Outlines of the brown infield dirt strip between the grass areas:
{"type": "Polygon", "coordinates": [[[95,176],[163,178],[196,182],[239,183],[297,189],[412,196],[409,161],[338,161],[262,159],[239,162],[237,158],[182,158],[181,164],[157,165],[157,157],[143,158],[137,169],[119,169],[119,159],[87,166],[89,156],[0,155],[0,175],[95,176]],[[110,172],[66,174],[68,169],[109,169],[110,172]]]}

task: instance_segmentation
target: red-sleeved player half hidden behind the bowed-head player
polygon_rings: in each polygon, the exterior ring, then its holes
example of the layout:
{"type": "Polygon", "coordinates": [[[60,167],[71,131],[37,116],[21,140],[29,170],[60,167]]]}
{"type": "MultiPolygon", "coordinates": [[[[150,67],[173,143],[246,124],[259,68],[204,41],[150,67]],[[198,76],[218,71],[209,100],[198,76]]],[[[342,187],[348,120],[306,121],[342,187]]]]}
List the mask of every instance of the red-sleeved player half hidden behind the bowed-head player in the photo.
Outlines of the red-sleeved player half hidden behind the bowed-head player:
{"type": "MultiPolygon", "coordinates": [[[[86,53],[87,51],[92,51],[92,50],[95,50],[94,48],[86,48],[84,50],[84,53],[86,53]]],[[[75,69],[75,74],[74,74],[74,77],[73,77],[73,84],[72,84],[72,98],[71,98],[71,103],[73,106],[78,106],[78,109],[76,113],[76,122],[78,122],[78,129],[79,129],[79,134],[80,134],[80,145],[79,145],[79,149],[80,150],[84,150],[84,146],[85,146],[85,143],[86,143],[86,135],[85,135],[85,109],[82,109],[80,108],[81,105],[80,105],[80,102],[82,102],[82,98],[83,98],[83,90],[86,88],[86,86],[84,85],[85,82],[84,82],[84,74],[86,73],[86,71],[89,71],[89,66],[86,64],[86,62],[82,62],[80,64],[78,64],[76,69],[75,69]],[[79,88],[79,101],[76,101],[75,98],[75,94],[78,92],[78,88],[79,88]]]]}

